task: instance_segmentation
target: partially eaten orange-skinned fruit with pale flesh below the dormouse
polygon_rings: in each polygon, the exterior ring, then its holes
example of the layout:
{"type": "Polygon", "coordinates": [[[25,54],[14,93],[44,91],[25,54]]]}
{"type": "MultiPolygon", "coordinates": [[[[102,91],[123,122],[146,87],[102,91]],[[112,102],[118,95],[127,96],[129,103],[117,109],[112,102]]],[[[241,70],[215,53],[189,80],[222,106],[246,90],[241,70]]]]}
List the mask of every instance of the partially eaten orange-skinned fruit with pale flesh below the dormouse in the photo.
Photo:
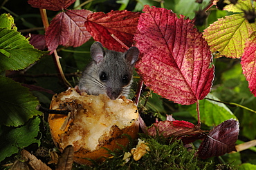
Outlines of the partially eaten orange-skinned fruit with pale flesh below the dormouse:
{"type": "Polygon", "coordinates": [[[79,164],[91,164],[86,158],[102,161],[109,156],[107,149],[126,146],[129,139],[123,134],[137,138],[137,107],[125,97],[111,100],[71,88],[53,96],[50,109],[70,111],[68,116],[49,115],[48,123],[55,145],[60,151],[73,145],[74,161],[79,164]]]}

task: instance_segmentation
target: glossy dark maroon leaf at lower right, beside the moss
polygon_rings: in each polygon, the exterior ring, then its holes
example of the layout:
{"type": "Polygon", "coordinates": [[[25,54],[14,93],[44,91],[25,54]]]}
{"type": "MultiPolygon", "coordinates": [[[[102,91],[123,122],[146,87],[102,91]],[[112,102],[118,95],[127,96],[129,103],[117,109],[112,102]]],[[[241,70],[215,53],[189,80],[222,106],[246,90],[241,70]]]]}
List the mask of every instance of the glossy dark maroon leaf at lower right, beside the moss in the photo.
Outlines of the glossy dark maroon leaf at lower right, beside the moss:
{"type": "Polygon", "coordinates": [[[237,120],[226,120],[205,137],[199,147],[197,154],[199,158],[210,158],[212,156],[222,156],[230,151],[236,151],[235,142],[239,134],[239,123],[237,120]]]}

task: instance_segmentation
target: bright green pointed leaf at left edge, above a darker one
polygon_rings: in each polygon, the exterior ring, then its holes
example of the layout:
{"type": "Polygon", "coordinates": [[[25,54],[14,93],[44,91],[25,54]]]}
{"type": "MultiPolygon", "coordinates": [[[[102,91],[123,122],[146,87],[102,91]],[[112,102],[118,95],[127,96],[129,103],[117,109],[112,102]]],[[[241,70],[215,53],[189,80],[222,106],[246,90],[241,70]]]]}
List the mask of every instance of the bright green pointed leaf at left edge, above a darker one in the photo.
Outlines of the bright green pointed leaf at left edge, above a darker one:
{"type": "Polygon", "coordinates": [[[7,28],[0,28],[0,50],[0,68],[2,70],[24,69],[47,53],[36,50],[19,32],[7,28]]]}

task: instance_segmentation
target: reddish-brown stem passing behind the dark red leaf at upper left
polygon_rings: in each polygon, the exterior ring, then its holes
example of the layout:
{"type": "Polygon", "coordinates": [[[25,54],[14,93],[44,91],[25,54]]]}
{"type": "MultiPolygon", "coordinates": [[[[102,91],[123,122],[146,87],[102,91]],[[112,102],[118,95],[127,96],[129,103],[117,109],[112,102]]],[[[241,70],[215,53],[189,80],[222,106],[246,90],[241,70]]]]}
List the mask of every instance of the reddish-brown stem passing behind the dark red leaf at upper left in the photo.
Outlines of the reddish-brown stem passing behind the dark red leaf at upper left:
{"type": "MultiPolygon", "coordinates": [[[[46,9],[39,9],[39,10],[40,10],[40,14],[42,17],[42,22],[44,24],[44,30],[46,31],[49,27],[46,9]]],[[[66,80],[66,77],[62,70],[62,65],[60,64],[60,56],[58,56],[56,50],[53,51],[52,56],[53,56],[53,61],[55,63],[56,69],[57,69],[57,73],[60,76],[60,78],[62,79],[64,85],[66,85],[66,87],[72,87],[72,85],[66,80]]]]}

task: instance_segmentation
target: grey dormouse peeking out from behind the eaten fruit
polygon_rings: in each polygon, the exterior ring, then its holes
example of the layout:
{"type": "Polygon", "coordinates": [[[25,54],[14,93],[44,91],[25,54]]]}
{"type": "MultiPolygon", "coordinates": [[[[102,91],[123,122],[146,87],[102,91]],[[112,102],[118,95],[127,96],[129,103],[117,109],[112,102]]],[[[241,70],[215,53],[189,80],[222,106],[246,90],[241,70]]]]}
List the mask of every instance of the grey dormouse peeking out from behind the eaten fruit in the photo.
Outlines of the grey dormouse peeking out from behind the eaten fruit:
{"type": "Polygon", "coordinates": [[[132,82],[134,64],[138,59],[137,47],[127,52],[104,49],[100,42],[91,45],[91,58],[78,87],[81,92],[91,95],[107,94],[115,100],[119,96],[128,96],[132,82]]]}

